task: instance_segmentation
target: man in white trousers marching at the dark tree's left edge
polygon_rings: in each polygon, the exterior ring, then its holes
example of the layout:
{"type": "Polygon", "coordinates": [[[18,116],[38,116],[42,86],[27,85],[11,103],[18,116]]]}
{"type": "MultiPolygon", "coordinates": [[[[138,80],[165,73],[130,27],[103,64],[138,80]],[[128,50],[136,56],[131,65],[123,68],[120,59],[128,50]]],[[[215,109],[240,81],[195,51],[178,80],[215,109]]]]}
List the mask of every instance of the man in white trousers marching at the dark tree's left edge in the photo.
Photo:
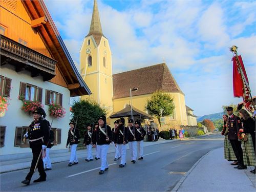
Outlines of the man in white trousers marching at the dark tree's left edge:
{"type": "Polygon", "coordinates": [[[70,129],[69,129],[69,132],[68,132],[68,139],[67,139],[66,148],[68,148],[68,145],[70,145],[70,147],[71,147],[71,154],[70,154],[70,159],[69,159],[68,166],[72,166],[72,165],[78,164],[78,159],[77,159],[77,156],[76,156],[76,147],[78,145],[80,135],[79,135],[79,130],[74,129],[74,127],[75,127],[75,122],[74,121],[71,121],[69,123],[69,125],[70,125],[70,129]]]}

